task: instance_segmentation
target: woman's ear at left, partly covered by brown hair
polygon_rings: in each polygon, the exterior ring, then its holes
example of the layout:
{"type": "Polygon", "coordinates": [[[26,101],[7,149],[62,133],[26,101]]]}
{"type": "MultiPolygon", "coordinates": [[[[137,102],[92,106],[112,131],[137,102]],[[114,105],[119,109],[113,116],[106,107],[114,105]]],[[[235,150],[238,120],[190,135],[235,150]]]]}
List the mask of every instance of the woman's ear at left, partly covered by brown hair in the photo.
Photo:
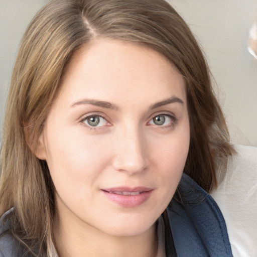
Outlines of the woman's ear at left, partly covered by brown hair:
{"type": "Polygon", "coordinates": [[[46,160],[47,155],[44,141],[44,130],[41,132],[40,136],[37,137],[35,133],[33,133],[33,129],[33,126],[25,126],[24,135],[26,143],[37,158],[46,160]]]}

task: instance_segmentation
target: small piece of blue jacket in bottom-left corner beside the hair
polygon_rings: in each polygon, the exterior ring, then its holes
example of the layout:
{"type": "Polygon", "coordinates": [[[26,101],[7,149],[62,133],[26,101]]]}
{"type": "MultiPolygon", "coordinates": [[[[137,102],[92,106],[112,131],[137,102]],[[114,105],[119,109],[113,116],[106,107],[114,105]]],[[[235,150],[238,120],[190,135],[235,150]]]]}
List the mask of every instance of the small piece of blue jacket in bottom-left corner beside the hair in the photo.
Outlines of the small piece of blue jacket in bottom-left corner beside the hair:
{"type": "Polygon", "coordinates": [[[25,253],[19,241],[10,232],[11,222],[8,216],[12,211],[13,209],[7,211],[0,218],[0,257],[22,257],[25,253]]]}

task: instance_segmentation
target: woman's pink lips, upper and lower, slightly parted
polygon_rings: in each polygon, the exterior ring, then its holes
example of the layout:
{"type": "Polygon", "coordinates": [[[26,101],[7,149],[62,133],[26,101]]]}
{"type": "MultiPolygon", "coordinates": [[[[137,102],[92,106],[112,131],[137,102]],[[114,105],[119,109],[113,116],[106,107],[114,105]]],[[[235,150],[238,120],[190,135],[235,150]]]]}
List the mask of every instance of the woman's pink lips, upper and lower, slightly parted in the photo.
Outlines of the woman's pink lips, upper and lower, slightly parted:
{"type": "Polygon", "coordinates": [[[117,203],[123,207],[136,207],[149,199],[153,189],[147,187],[119,187],[102,189],[101,191],[114,203],[117,203]]]}

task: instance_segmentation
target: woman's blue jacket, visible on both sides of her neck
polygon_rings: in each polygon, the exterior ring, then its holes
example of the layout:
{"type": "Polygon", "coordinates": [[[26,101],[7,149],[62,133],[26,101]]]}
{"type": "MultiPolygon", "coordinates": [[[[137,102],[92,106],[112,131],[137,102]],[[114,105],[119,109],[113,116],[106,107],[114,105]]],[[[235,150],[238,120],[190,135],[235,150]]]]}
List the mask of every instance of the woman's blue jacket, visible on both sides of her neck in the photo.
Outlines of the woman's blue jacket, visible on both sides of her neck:
{"type": "MultiPolygon", "coordinates": [[[[232,257],[226,224],[213,198],[186,174],[178,192],[179,201],[173,199],[162,214],[166,256],[232,257]]],[[[0,257],[23,257],[26,253],[26,248],[8,233],[5,217],[12,210],[0,219],[0,257]]]]}

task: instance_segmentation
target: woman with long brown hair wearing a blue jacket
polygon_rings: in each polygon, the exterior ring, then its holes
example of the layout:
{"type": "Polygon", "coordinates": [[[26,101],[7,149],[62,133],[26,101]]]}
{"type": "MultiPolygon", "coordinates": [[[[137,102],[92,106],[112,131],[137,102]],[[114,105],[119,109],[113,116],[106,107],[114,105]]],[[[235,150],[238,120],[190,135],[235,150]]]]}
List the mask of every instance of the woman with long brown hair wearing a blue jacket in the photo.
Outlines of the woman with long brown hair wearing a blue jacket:
{"type": "Polygon", "coordinates": [[[168,3],[50,1],[10,87],[2,255],[232,256],[208,196],[232,153],[206,61],[168,3]]]}

